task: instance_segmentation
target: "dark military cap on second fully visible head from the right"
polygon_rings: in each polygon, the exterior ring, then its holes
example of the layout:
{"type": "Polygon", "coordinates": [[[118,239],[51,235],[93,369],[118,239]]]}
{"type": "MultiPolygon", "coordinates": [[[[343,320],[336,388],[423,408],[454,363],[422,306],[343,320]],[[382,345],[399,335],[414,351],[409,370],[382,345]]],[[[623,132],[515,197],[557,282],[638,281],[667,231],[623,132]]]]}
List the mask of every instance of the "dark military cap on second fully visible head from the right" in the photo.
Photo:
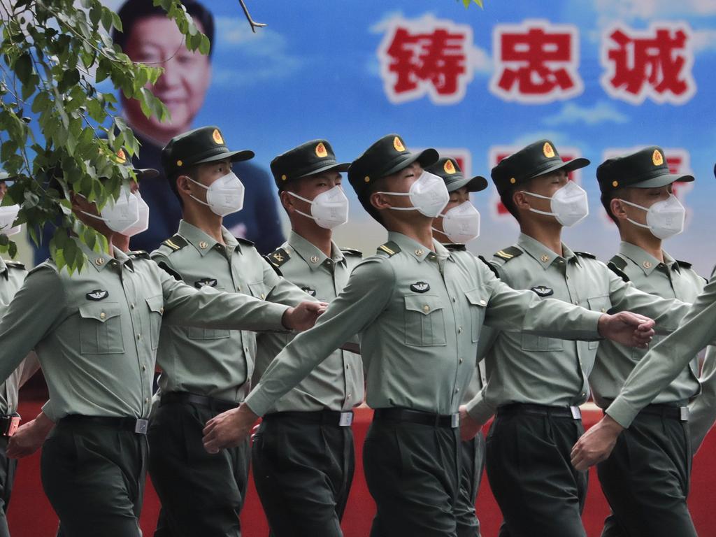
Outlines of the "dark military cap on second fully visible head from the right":
{"type": "Polygon", "coordinates": [[[491,175],[498,193],[502,195],[513,185],[540,175],[558,170],[571,172],[588,165],[589,160],[586,158],[574,158],[564,162],[552,142],[539,140],[500,160],[500,163],[492,169],[491,175]]]}

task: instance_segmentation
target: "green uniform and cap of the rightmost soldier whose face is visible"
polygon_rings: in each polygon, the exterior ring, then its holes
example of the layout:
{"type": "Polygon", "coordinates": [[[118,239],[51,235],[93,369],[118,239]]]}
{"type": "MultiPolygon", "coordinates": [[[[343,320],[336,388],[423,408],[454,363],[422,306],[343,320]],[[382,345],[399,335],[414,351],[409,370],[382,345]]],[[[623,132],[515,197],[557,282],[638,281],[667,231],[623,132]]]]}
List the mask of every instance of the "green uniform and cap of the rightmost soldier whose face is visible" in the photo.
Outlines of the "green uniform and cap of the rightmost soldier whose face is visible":
{"type": "MultiPolygon", "coordinates": [[[[669,173],[659,147],[606,160],[597,169],[597,178],[603,193],[693,180],[691,175],[669,173]]],[[[705,280],[690,263],[676,261],[666,252],[663,257],[664,261],[659,261],[643,248],[622,242],[609,266],[637,289],[693,302],[705,280]]],[[[659,339],[654,338],[652,344],[659,339]]],[[[609,406],[645,354],[644,349],[629,349],[614,342],[599,346],[589,379],[597,405],[609,406]]],[[[699,394],[698,375],[699,361],[694,353],[688,367],[639,412],[629,429],[619,435],[609,459],[597,466],[612,511],[604,523],[603,536],[696,535],[687,505],[692,460],[687,405],[699,394]]]]}

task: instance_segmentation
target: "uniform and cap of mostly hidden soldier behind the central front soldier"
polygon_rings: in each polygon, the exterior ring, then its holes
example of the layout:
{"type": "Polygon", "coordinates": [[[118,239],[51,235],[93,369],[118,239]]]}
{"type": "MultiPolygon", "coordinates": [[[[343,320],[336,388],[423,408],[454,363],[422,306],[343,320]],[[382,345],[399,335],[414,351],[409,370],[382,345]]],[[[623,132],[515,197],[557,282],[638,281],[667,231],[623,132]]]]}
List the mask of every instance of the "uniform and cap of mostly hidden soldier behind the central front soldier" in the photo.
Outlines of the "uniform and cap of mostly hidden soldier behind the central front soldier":
{"type": "MultiPolygon", "coordinates": [[[[452,158],[442,157],[433,165],[426,168],[430,173],[435,173],[445,181],[448,192],[454,192],[466,187],[468,192],[480,192],[488,187],[485,178],[476,175],[473,178],[466,178],[460,165],[452,158]]],[[[472,256],[464,244],[449,243],[444,245],[452,256],[472,256]]],[[[480,260],[487,263],[480,256],[480,260]]],[[[482,338],[481,338],[482,339],[482,338]]],[[[483,388],[484,367],[482,361],[476,361],[475,373],[470,384],[465,388],[463,404],[473,400],[483,388]]],[[[475,513],[475,501],[477,500],[480,480],[483,477],[485,468],[485,437],[479,432],[474,438],[464,440],[461,449],[461,471],[460,491],[455,501],[455,523],[458,537],[480,537],[480,521],[475,513]]]]}

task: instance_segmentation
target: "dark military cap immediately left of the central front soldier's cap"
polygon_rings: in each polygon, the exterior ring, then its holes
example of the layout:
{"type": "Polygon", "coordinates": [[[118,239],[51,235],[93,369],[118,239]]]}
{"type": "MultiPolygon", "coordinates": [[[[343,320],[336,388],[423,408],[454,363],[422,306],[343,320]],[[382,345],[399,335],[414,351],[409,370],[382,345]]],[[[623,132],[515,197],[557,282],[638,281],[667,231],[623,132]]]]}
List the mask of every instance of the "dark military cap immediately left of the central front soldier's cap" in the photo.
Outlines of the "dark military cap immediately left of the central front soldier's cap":
{"type": "Polygon", "coordinates": [[[350,163],[337,163],[328,140],[311,140],[271,160],[271,173],[279,189],[294,179],[335,170],[345,172],[350,163]]]}

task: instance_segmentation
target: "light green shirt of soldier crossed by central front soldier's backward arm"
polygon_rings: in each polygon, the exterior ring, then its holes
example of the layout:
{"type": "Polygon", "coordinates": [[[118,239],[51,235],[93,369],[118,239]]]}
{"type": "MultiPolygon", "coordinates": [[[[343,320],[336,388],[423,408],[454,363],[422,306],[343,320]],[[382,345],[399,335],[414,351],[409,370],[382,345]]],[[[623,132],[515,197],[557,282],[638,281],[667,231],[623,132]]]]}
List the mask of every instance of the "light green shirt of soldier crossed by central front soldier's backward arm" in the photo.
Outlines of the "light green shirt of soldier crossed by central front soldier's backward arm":
{"type": "MultiPolygon", "coordinates": [[[[343,252],[335,243],[331,243],[331,256],[327,257],[295,231],[291,231],[289,240],[267,258],[284,278],[324,302],[331,302],[338,296],[351,271],[361,261],[359,252],[343,252]]],[[[293,336],[266,332],[258,334],[256,339],[258,349],[254,383],[293,336]]],[[[337,349],[268,412],[351,410],[363,402],[363,395],[360,355],[337,349]]]]}

